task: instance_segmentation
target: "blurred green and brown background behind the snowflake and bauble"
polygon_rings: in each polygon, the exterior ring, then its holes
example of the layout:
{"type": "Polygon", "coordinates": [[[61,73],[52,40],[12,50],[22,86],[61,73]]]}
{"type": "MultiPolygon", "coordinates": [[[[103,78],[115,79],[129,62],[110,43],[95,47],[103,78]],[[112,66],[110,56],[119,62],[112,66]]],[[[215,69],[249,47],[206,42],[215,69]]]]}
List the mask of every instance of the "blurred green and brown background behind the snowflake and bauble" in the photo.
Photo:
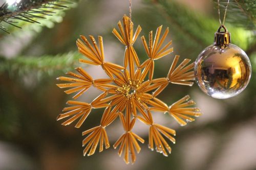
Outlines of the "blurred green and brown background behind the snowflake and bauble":
{"type": "MultiPolygon", "coordinates": [[[[134,131],[145,143],[133,165],[126,165],[113,148],[82,156],[81,133],[98,126],[103,110],[94,110],[80,129],[62,126],[56,117],[72,96],[55,85],[56,77],[77,66],[95,79],[106,77],[99,67],[78,63],[83,58],[75,44],[79,35],[103,36],[106,61],[122,65],[124,46],[112,29],[123,14],[129,15],[129,1],[80,0],[68,6],[38,19],[40,24],[20,21],[23,29],[6,25],[11,34],[0,30],[0,169],[256,169],[256,1],[230,1],[225,24],[232,43],[250,58],[247,88],[217,100],[196,84],[169,85],[159,99],[170,105],[189,94],[203,115],[180,127],[169,115],[154,114],[156,123],[177,133],[168,157],[147,148],[148,127],[137,122],[134,131]]],[[[133,0],[132,20],[142,27],[140,36],[155,33],[160,25],[169,27],[174,53],[155,62],[154,78],[166,76],[176,54],[195,61],[219,27],[216,2],[205,0],[133,0]]],[[[140,61],[147,59],[140,39],[134,46],[140,61]]],[[[99,93],[91,88],[79,101],[90,102],[99,93]]],[[[123,133],[120,122],[107,132],[113,145],[123,133]]]]}

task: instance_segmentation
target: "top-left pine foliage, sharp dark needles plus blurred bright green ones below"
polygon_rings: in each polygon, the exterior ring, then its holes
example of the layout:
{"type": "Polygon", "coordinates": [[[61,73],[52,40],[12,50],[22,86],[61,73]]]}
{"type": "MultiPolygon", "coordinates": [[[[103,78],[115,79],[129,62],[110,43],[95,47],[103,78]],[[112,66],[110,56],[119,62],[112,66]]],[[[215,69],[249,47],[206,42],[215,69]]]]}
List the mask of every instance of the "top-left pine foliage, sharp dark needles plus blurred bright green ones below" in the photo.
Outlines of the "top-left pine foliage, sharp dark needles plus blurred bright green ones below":
{"type": "Polygon", "coordinates": [[[0,6],[0,30],[14,32],[28,23],[41,23],[32,27],[35,31],[42,26],[52,28],[54,22],[62,21],[63,10],[74,6],[73,0],[23,0],[13,4],[4,3],[0,6]]]}

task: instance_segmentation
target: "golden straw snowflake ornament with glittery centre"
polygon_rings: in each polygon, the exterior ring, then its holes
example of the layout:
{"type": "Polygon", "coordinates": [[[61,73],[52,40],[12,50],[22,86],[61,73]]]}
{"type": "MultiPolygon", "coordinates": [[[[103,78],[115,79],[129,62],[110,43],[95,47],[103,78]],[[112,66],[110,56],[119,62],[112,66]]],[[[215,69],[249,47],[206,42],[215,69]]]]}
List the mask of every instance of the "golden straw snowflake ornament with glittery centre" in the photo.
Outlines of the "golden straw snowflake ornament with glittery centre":
{"type": "Polygon", "coordinates": [[[171,148],[166,139],[175,143],[175,138],[173,137],[176,134],[175,130],[156,124],[153,120],[152,112],[168,113],[181,126],[186,125],[187,122],[194,121],[194,117],[201,115],[199,108],[189,107],[195,105],[195,103],[189,100],[188,95],[170,106],[157,98],[157,95],[169,83],[193,85],[191,81],[194,80],[194,63],[188,64],[190,60],[185,59],[177,66],[179,56],[175,56],[167,77],[153,79],[155,60],[173,52],[173,48],[170,47],[172,41],[163,45],[168,34],[168,28],[160,38],[162,26],[158,27],[154,41],[153,31],[151,31],[148,44],[145,37],[141,37],[148,56],[148,59],[142,64],[133,47],[141,31],[141,27],[138,26],[134,33],[133,22],[130,17],[124,15],[123,25],[119,21],[118,28],[120,32],[114,29],[113,34],[125,45],[124,66],[105,62],[101,36],[98,36],[99,46],[93,36],[89,36],[92,44],[84,36],[81,36],[81,39],[77,40],[79,52],[89,59],[80,59],[79,61],[101,66],[109,76],[109,79],[93,80],[81,67],[76,68],[79,74],[67,72],[72,78],[57,78],[57,80],[70,82],[57,84],[57,86],[60,88],[70,88],[65,92],[67,94],[76,93],[73,96],[74,99],[77,99],[91,86],[102,91],[102,94],[91,103],[68,101],[67,104],[72,106],[64,108],[64,113],[59,114],[57,120],[67,118],[62,125],[69,125],[79,119],[75,127],[80,128],[92,109],[105,108],[100,125],[82,132],[82,135],[87,136],[82,141],[82,145],[85,147],[83,150],[84,156],[86,154],[88,156],[94,154],[98,144],[99,152],[103,151],[103,145],[105,149],[110,147],[106,129],[118,117],[123,125],[124,134],[115,142],[114,148],[119,148],[119,156],[124,153],[124,161],[126,163],[129,163],[129,153],[131,154],[132,163],[135,162],[135,151],[139,153],[141,150],[139,142],[144,143],[144,139],[132,131],[137,120],[140,120],[149,127],[148,148],[151,150],[155,148],[157,152],[167,156],[171,152],[171,148]],[[147,80],[146,77],[148,77],[147,80]]]}

